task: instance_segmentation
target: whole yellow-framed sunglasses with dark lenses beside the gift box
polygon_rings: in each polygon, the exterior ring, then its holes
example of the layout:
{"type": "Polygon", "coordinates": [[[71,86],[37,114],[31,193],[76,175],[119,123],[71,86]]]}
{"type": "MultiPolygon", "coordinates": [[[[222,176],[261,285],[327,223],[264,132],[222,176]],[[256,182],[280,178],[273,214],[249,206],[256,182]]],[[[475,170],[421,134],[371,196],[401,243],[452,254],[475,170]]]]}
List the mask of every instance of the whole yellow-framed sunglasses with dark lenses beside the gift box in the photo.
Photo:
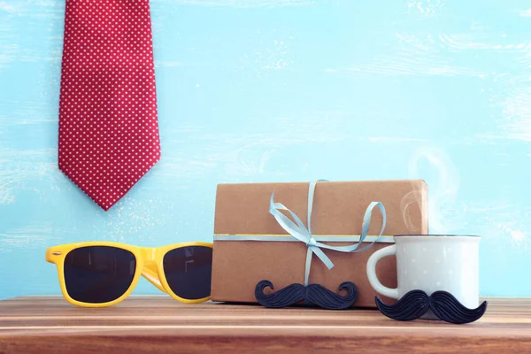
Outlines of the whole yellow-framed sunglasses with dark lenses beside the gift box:
{"type": "Polygon", "coordinates": [[[46,261],[58,267],[66,301],[82,307],[118,304],[142,275],[185,304],[210,300],[212,243],[136,247],[119,242],[79,242],[50,247],[46,261]]]}

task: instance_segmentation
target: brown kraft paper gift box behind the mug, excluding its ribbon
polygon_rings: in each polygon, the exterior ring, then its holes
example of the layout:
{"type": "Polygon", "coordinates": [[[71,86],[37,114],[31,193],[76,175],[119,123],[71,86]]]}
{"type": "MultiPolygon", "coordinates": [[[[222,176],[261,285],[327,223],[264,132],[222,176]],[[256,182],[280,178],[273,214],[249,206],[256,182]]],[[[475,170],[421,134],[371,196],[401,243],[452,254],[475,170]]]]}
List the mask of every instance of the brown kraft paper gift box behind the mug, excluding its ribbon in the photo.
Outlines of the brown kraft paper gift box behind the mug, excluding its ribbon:
{"type": "MultiPolygon", "coordinates": [[[[274,290],[304,283],[304,242],[223,241],[223,235],[289,235],[269,213],[269,202],[284,204],[306,224],[309,182],[219,184],[216,193],[212,258],[212,301],[256,303],[258,281],[268,280],[274,290]]],[[[381,202],[387,214],[382,235],[427,235],[427,184],[422,180],[319,181],[312,209],[312,235],[360,235],[366,208],[381,202]]],[[[289,215],[284,212],[285,215],[289,215]]],[[[373,209],[368,236],[378,235],[382,216],[373,209]]],[[[386,238],[389,240],[389,237],[386,238]]],[[[356,242],[323,242],[348,245],[356,242]]],[[[360,247],[365,245],[363,242],[360,247]]],[[[367,259],[389,242],[376,242],[359,253],[321,249],[334,263],[330,270],[312,257],[309,283],[337,289],[343,281],[358,288],[354,307],[375,307],[373,290],[366,276],[367,259]]],[[[396,288],[396,258],[378,263],[378,278],[396,288]]],[[[379,295],[380,296],[380,295],[379,295]]],[[[381,296],[388,303],[396,300],[381,296]]]]}

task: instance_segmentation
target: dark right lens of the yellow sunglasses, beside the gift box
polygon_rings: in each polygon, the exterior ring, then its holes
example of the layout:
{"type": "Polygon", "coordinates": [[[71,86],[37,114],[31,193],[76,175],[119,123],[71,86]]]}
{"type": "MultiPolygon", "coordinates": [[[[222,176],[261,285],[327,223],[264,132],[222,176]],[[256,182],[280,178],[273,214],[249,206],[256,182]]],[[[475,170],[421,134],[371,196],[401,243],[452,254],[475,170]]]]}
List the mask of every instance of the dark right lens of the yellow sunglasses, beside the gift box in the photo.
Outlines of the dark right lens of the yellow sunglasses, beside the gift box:
{"type": "Polygon", "coordinates": [[[212,248],[189,246],[170,250],[163,263],[166,281],[175,295],[187,300],[210,296],[212,248]]]}

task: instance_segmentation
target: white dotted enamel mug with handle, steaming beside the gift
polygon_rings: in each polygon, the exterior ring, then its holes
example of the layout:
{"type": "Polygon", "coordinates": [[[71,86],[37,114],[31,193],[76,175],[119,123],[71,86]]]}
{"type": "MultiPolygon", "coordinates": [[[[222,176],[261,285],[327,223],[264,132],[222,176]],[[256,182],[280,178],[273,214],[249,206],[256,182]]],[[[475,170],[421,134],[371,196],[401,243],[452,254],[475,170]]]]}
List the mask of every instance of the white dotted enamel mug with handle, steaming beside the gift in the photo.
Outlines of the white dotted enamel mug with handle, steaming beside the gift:
{"type": "MultiPolygon", "coordinates": [[[[469,235],[396,235],[395,244],[377,250],[367,261],[367,277],[374,290],[399,300],[411,290],[430,296],[444,290],[461,304],[475,309],[480,302],[480,237],[469,235]],[[396,255],[398,287],[389,289],[376,276],[381,258],[396,255]]],[[[435,319],[427,312],[423,319],[435,319]]]]}

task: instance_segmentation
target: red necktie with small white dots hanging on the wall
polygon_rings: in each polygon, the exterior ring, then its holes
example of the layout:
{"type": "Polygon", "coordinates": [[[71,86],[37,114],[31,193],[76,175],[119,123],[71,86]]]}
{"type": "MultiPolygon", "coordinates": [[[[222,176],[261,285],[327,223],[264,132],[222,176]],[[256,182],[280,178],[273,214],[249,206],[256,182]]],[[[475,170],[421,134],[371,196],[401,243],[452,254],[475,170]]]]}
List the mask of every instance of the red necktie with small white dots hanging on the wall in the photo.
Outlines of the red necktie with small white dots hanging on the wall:
{"type": "Polygon", "coordinates": [[[66,0],[59,168],[109,210],[160,158],[149,0],[66,0]]]}

